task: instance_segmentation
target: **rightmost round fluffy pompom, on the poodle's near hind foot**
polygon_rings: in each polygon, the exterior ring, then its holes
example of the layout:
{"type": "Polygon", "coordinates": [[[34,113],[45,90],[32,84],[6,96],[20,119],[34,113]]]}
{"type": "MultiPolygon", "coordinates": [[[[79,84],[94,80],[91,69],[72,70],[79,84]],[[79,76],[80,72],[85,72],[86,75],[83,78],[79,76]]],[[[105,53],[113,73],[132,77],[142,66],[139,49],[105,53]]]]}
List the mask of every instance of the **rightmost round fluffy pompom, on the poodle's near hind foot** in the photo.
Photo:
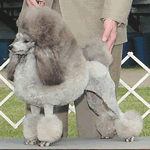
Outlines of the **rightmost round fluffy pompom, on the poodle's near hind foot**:
{"type": "Polygon", "coordinates": [[[136,111],[127,111],[121,118],[115,120],[115,128],[119,137],[137,137],[142,132],[142,117],[136,111]]]}

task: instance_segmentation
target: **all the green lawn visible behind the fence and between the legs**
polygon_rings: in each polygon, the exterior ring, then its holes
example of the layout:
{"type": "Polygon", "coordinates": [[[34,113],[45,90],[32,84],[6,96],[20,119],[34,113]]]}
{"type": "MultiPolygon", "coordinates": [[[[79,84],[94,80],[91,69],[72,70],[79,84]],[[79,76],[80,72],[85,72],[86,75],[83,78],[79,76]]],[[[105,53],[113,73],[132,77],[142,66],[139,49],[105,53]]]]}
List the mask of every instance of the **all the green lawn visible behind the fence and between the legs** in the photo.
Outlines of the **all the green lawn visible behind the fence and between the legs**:
{"type": "MultiPolygon", "coordinates": [[[[138,88],[135,91],[145,100],[147,100],[148,103],[150,103],[150,87],[138,88]]],[[[125,88],[119,88],[118,99],[120,99],[126,92],[127,90],[125,88]]],[[[8,88],[0,88],[0,100],[2,100],[8,93],[10,93],[10,90],[8,88]]],[[[123,112],[135,109],[141,115],[143,115],[148,110],[148,108],[133,95],[128,96],[128,98],[120,104],[120,108],[123,112]]],[[[16,123],[24,116],[25,105],[22,101],[18,100],[16,95],[14,95],[3,106],[0,107],[0,110],[3,111],[13,122],[16,123]]],[[[77,137],[76,115],[73,112],[69,114],[68,123],[68,137],[77,137]]],[[[14,129],[11,125],[9,125],[9,123],[7,123],[7,121],[5,121],[0,116],[0,138],[23,138],[22,131],[22,124],[19,126],[18,129],[14,129]]],[[[140,136],[150,136],[150,115],[148,115],[144,119],[144,129],[140,136]]]]}

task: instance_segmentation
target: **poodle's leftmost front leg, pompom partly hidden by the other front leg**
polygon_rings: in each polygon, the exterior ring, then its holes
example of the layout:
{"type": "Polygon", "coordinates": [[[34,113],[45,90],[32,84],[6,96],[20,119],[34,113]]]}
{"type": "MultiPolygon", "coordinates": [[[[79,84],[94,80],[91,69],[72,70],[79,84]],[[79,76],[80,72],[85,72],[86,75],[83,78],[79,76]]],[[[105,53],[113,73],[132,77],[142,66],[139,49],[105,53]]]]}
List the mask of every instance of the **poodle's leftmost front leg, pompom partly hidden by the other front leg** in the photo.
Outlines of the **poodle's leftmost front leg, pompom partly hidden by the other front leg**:
{"type": "Polygon", "coordinates": [[[40,120],[40,108],[31,106],[31,114],[28,114],[23,123],[23,134],[25,137],[25,145],[36,145],[37,139],[37,123],[40,120]]]}

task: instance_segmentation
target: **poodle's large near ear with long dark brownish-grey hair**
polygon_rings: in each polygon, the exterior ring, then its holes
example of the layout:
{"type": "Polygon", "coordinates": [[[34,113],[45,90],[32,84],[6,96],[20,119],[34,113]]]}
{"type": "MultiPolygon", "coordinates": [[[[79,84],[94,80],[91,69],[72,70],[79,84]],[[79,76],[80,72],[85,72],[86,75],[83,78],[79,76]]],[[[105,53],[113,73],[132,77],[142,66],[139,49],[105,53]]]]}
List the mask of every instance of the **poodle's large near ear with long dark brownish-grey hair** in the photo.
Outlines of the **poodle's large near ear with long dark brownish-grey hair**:
{"type": "Polygon", "coordinates": [[[64,81],[64,68],[57,55],[52,49],[36,47],[37,72],[43,85],[58,85],[64,81]]]}

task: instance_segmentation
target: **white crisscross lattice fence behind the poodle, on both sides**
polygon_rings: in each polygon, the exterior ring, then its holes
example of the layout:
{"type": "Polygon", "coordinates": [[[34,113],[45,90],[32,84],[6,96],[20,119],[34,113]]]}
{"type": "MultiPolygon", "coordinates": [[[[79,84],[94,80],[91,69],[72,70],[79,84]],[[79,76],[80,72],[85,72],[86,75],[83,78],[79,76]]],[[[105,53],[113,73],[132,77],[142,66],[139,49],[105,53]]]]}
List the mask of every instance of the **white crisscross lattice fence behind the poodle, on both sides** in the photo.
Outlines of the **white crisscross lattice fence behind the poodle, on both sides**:
{"type": "MultiPolygon", "coordinates": [[[[129,58],[132,58],[134,61],[136,61],[142,68],[144,68],[146,71],[147,71],[147,74],[141,79],[139,80],[132,88],[127,85],[122,79],[120,79],[120,83],[125,87],[127,88],[128,92],[122,96],[119,100],[118,100],[118,104],[120,104],[121,102],[123,102],[131,93],[137,97],[144,105],[146,105],[146,107],[149,108],[148,111],[146,111],[143,115],[142,115],[142,118],[144,119],[148,114],[150,114],[150,104],[145,100],[143,99],[138,93],[135,92],[135,89],[142,83],[144,82],[149,76],[150,76],[150,69],[145,65],[143,64],[138,58],[136,58],[132,52],[129,52],[127,54],[127,56],[122,60],[122,63],[121,64],[124,64],[129,58]]],[[[7,64],[9,63],[9,59],[3,63],[1,66],[0,66],[0,71],[2,71],[6,66],[7,64]]],[[[5,105],[5,103],[7,102],[7,100],[9,100],[13,94],[14,94],[14,87],[0,74],[0,79],[12,90],[12,92],[10,94],[8,94],[1,102],[0,102],[0,108],[2,105],[5,105]]],[[[75,106],[71,106],[69,105],[69,112],[75,112],[75,106]]],[[[17,129],[19,127],[19,125],[22,123],[23,119],[24,119],[24,116],[22,116],[22,118],[15,124],[13,121],[11,121],[9,119],[9,117],[7,117],[5,115],[5,113],[3,113],[0,109],[0,115],[9,123],[11,124],[11,126],[14,128],[14,129],[17,129]]]]}

